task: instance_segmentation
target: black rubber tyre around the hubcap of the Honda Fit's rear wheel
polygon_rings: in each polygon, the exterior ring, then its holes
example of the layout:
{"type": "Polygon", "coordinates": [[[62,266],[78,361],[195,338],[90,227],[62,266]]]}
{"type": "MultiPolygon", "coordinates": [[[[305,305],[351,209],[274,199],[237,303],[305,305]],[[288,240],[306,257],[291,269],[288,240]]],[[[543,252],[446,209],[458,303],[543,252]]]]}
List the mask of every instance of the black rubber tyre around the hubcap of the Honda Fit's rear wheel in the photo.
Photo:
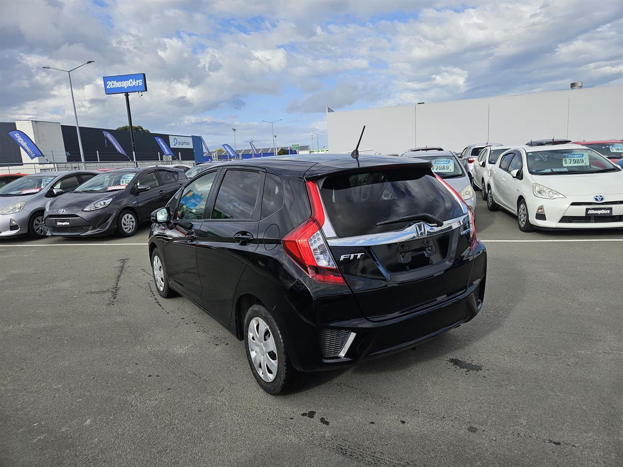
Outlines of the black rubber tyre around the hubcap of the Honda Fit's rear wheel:
{"type": "MultiPolygon", "coordinates": [[[[300,384],[303,374],[292,366],[290,358],[285,351],[281,330],[277,326],[277,323],[275,323],[275,320],[269,311],[260,304],[254,304],[247,311],[247,314],[244,317],[243,326],[244,347],[247,353],[247,361],[249,361],[249,367],[255,377],[255,380],[257,381],[257,384],[259,384],[260,387],[267,393],[272,395],[287,394],[295,389],[300,384]],[[267,357],[271,357],[271,360],[273,356],[277,359],[277,371],[274,374],[271,373],[271,375],[273,375],[272,381],[264,380],[264,378],[260,375],[259,370],[255,367],[253,357],[251,356],[251,349],[249,347],[249,324],[254,321],[255,318],[259,318],[267,324],[268,327],[266,331],[268,333],[268,339],[270,340],[270,337],[272,336],[275,344],[274,351],[265,352],[267,357]]],[[[260,338],[262,340],[267,339],[267,333],[265,332],[260,338]]],[[[268,342],[268,340],[264,342],[268,342]]],[[[262,346],[264,342],[262,342],[262,346]]],[[[257,354],[257,351],[254,352],[257,354]]],[[[264,352],[264,349],[262,349],[262,352],[264,352]]],[[[259,356],[260,359],[263,357],[264,353],[259,356]]]]}

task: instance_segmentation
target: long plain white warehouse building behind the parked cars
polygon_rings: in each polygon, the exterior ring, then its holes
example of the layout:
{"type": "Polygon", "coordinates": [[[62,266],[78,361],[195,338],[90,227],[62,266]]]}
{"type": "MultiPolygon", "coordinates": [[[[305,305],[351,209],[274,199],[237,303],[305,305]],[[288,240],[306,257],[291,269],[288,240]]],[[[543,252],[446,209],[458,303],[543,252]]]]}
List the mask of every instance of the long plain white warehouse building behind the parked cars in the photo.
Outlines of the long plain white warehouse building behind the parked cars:
{"type": "Polygon", "coordinates": [[[623,138],[623,86],[419,103],[366,110],[327,109],[331,153],[402,154],[417,146],[462,151],[472,143],[525,144],[623,138]]]}

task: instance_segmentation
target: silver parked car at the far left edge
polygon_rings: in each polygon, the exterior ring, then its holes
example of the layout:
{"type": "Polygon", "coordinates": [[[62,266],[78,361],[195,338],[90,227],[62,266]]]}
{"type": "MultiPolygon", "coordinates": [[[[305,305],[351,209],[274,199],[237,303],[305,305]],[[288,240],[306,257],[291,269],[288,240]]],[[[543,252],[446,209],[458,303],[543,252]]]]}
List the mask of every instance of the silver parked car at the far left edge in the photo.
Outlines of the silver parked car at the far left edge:
{"type": "Polygon", "coordinates": [[[45,204],[101,172],[40,172],[0,188],[0,238],[28,234],[45,237],[45,204]]]}

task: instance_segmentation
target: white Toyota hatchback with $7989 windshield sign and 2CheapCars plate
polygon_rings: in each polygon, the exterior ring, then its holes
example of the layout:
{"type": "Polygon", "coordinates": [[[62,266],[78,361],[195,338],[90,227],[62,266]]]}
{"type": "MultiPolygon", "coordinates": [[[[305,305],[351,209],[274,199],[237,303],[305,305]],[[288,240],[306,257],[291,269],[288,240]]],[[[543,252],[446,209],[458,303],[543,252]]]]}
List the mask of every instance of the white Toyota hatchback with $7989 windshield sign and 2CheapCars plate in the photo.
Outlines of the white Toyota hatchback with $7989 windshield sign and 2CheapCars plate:
{"type": "Polygon", "coordinates": [[[490,168],[487,207],[537,229],[623,229],[623,170],[579,144],[508,149],[490,168]]]}

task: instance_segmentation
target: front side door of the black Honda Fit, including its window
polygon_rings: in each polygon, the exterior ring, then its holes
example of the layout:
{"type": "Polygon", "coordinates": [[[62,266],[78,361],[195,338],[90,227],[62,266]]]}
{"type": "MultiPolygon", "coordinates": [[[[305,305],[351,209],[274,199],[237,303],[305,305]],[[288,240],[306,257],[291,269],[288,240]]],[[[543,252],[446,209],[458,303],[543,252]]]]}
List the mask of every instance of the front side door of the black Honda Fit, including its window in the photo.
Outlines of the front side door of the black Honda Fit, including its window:
{"type": "Polygon", "coordinates": [[[197,271],[197,234],[210,217],[212,186],[218,171],[206,172],[179,194],[177,205],[169,205],[171,223],[166,230],[164,261],[169,280],[176,290],[202,305],[201,279],[197,271]]]}

